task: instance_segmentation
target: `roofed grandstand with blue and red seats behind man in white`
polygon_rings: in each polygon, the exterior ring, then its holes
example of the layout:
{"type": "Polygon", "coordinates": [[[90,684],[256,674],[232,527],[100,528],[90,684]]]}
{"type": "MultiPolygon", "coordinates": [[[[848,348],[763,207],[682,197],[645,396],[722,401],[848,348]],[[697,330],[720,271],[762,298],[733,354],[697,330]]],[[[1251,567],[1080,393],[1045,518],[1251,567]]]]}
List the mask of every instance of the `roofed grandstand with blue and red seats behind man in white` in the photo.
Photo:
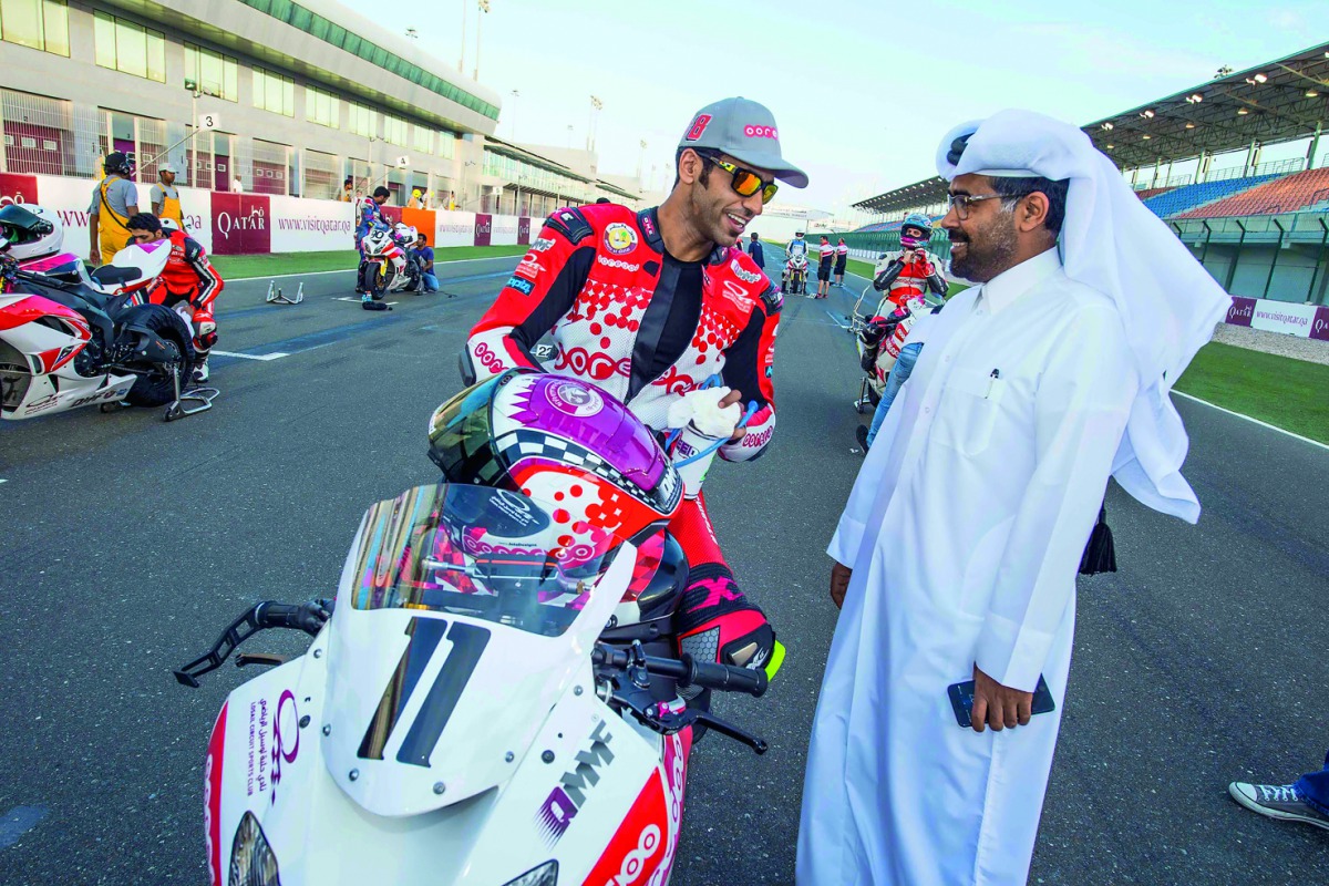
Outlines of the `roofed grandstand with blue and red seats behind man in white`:
{"type": "MultiPolygon", "coordinates": [[[[1326,304],[1329,43],[1220,74],[1082,129],[1229,292],[1326,304]],[[1261,162],[1301,143],[1300,157],[1261,162]]],[[[936,177],[864,199],[853,209],[876,218],[845,242],[898,248],[898,219],[940,215],[945,201],[936,177]]]]}

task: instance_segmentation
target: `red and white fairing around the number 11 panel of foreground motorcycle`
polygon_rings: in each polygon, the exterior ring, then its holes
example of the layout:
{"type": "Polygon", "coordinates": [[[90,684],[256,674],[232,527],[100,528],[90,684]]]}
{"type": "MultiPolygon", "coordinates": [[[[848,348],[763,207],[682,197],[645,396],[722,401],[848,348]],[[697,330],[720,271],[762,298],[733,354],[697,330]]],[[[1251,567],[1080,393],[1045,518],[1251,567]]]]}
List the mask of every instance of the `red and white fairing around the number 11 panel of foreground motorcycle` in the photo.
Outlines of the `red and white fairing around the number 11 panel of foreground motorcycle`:
{"type": "MultiPolygon", "coordinates": [[[[529,752],[504,762],[501,784],[413,816],[377,816],[358,804],[334,778],[322,739],[336,667],[332,626],[304,656],[238,687],[218,717],[203,766],[214,883],[227,882],[246,812],[262,825],[282,886],[496,886],[550,858],[560,882],[610,869],[638,871],[625,883],[667,882],[682,821],[684,736],[662,739],[599,701],[585,651],[552,708],[526,712],[538,728],[529,752]]],[[[482,745],[485,736],[460,740],[482,745]]],[[[502,758],[501,745],[492,751],[502,758]]],[[[448,798],[452,784],[423,772],[431,793],[441,784],[448,798]]]]}

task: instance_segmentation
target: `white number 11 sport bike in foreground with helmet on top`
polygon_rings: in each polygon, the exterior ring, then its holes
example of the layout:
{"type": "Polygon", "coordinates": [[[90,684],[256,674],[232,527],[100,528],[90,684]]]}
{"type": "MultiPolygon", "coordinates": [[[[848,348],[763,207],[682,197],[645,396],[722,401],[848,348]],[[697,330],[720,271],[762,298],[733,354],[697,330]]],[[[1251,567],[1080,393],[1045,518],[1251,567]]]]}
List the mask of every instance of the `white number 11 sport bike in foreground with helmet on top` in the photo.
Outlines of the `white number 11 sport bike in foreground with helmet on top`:
{"type": "Polygon", "coordinates": [[[335,604],[259,603],[186,685],[264,628],[300,658],[230,693],[205,778],[214,885],[668,882],[692,731],[766,743],[683,696],[766,691],[676,656],[682,480],[626,406],[513,369],[441,405],[451,482],[372,506],[335,604]]]}

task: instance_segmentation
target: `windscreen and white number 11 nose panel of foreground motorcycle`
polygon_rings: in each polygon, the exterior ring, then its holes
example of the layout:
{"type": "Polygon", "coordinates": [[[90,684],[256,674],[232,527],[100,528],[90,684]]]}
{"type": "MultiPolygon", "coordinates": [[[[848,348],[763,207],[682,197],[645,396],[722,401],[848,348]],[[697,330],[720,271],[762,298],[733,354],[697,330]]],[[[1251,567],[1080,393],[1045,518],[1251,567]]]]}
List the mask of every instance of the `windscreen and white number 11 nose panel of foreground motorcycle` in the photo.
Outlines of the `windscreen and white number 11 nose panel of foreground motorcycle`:
{"type": "Polygon", "coordinates": [[[364,809],[404,816],[510,777],[634,559],[630,543],[501,489],[419,486],[371,507],[331,623],[334,780],[364,809]]]}

